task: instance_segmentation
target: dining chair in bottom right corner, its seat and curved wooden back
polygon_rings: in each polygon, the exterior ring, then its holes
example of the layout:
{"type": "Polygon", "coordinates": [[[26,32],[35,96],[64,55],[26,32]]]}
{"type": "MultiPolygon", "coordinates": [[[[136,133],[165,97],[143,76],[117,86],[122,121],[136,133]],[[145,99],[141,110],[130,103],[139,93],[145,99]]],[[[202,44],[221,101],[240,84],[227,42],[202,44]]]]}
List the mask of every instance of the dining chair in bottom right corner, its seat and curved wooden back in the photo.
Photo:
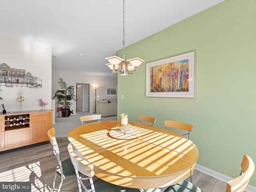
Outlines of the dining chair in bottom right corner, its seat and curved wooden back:
{"type": "MultiPolygon", "coordinates": [[[[241,163],[242,171],[240,176],[227,182],[227,187],[225,192],[243,192],[248,185],[252,174],[254,173],[254,162],[252,159],[244,155],[241,163]]],[[[203,192],[200,188],[195,186],[189,181],[182,181],[178,184],[169,186],[164,190],[164,192],[203,192]]]]}

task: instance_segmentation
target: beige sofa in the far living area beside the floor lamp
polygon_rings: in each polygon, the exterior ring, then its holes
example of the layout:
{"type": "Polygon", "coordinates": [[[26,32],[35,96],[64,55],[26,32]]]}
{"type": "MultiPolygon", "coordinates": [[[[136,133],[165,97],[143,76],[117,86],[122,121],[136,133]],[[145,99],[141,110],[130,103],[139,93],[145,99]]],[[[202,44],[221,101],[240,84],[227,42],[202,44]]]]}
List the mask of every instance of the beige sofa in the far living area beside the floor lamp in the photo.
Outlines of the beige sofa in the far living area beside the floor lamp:
{"type": "Polygon", "coordinates": [[[96,102],[96,114],[102,117],[117,115],[117,98],[98,99],[96,102]]]}

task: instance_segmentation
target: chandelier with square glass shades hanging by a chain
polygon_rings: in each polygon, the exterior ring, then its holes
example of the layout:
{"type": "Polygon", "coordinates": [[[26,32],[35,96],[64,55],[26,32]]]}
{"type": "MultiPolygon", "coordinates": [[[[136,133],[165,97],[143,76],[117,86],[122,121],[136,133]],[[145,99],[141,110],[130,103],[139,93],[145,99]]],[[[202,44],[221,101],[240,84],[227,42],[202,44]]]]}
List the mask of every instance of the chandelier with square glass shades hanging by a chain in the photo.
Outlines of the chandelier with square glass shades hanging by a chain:
{"type": "MultiPolygon", "coordinates": [[[[124,0],[123,0],[123,53],[124,53],[124,0]]],[[[137,70],[137,67],[144,62],[144,60],[140,58],[133,58],[125,60],[124,58],[120,58],[118,56],[112,56],[105,58],[108,60],[108,64],[106,64],[111,70],[112,73],[120,73],[120,75],[132,74],[133,71],[137,70]]]]}

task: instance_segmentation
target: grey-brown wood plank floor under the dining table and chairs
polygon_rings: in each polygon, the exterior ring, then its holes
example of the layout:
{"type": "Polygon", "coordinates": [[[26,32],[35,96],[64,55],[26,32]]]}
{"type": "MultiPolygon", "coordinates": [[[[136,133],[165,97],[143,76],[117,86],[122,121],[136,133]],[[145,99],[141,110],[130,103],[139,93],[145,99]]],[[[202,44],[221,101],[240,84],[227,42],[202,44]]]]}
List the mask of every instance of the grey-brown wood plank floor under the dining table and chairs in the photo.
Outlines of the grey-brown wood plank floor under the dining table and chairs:
{"type": "MultiPolygon", "coordinates": [[[[61,159],[69,157],[67,138],[58,138],[61,159]]],[[[0,181],[32,183],[32,192],[48,192],[52,189],[57,160],[52,151],[50,142],[43,142],[14,150],[0,152],[0,181]]],[[[60,178],[57,179],[58,186],[60,178]]],[[[89,184],[85,181],[86,185],[89,184]]],[[[204,192],[224,192],[226,183],[196,170],[192,176],[192,183],[204,192]]],[[[65,179],[63,190],[77,192],[76,178],[65,179]]]]}

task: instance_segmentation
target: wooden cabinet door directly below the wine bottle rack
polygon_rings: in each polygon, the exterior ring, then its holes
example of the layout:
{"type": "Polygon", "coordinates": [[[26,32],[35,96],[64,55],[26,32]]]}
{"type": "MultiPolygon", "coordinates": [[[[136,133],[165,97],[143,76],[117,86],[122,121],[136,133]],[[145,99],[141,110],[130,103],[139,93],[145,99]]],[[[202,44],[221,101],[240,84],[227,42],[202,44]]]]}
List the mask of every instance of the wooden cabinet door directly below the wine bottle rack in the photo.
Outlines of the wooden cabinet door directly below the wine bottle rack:
{"type": "Polygon", "coordinates": [[[8,130],[4,132],[4,148],[19,147],[29,142],[29,128],[8,130]]]}

